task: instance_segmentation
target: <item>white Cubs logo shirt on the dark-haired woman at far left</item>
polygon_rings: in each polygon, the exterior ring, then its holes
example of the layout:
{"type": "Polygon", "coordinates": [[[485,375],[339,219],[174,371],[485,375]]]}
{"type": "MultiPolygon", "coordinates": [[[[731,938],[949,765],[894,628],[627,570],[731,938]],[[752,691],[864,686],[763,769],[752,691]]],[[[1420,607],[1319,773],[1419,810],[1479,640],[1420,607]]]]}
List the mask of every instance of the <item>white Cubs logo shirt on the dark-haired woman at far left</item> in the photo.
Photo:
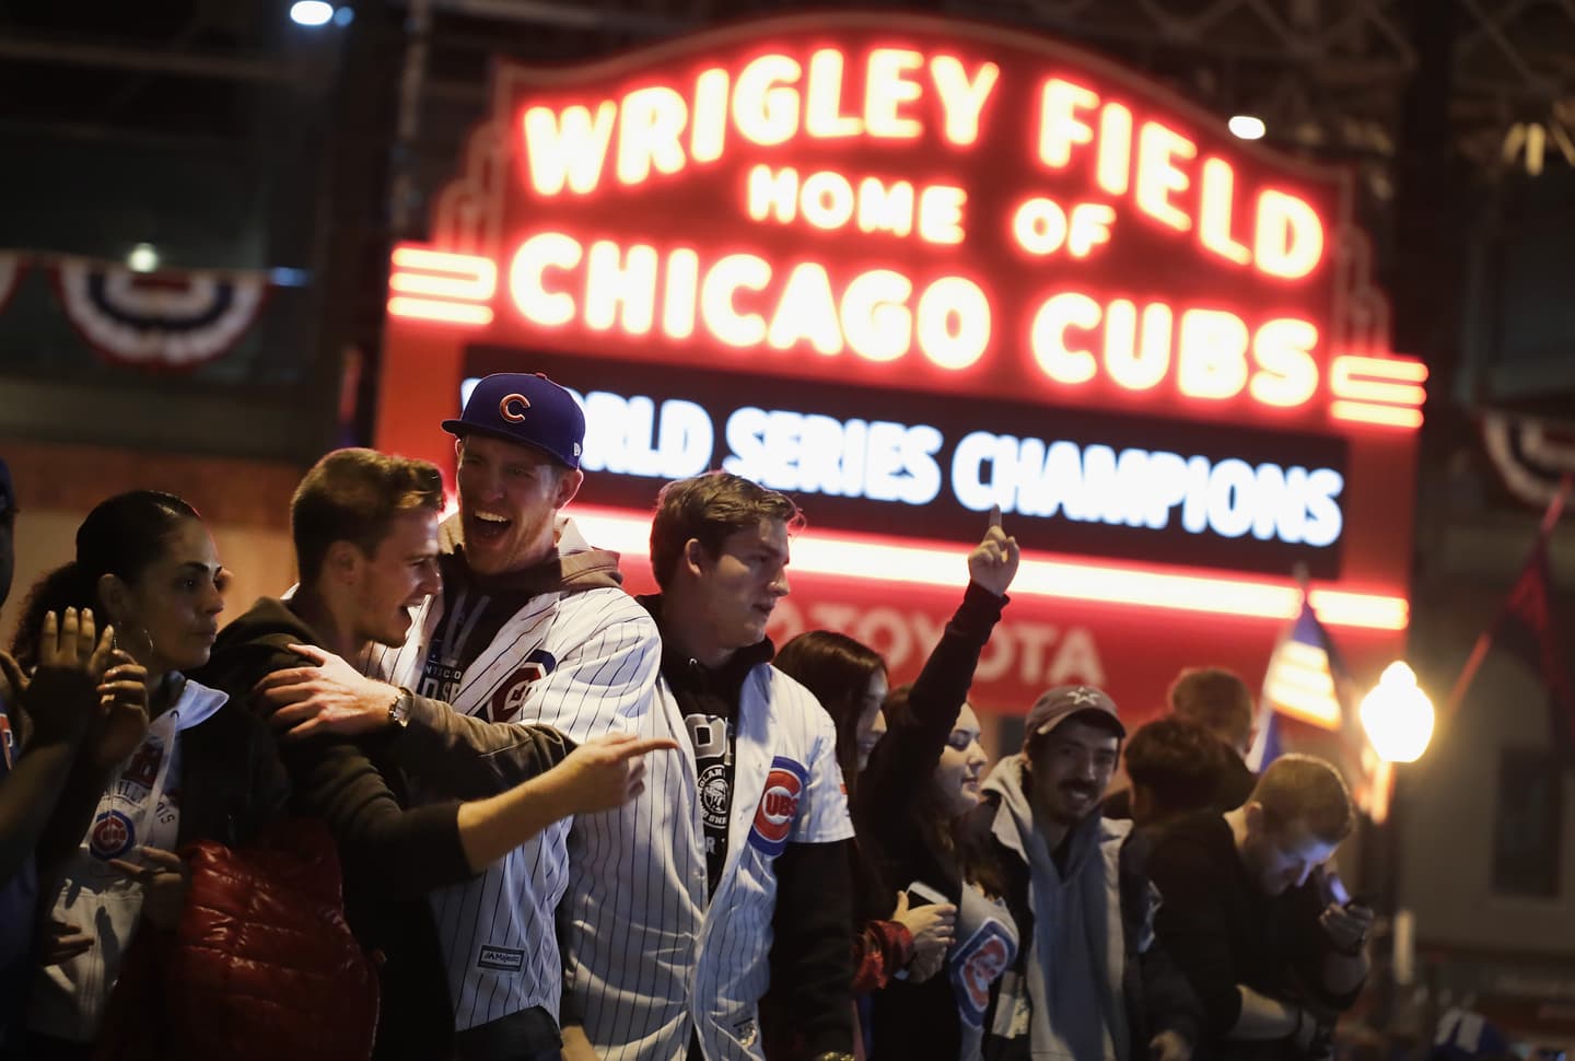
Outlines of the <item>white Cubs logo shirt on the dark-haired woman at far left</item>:
{"type": "Polygon", "coordinates": [[[175,707],[148,726],[148,735],[109,778],[82,845],[66,860],[52,915],[94,937],[69,962],[44,968],[35,985],[28,1025],[60,1039],[91,1042],[110,989],[142,919],[142,885],[109,864],[140,863],[139,848],[175,850],[180,833],[181,745],[176,735],[213,718],[230,697],[187,680],[175,707]]]}

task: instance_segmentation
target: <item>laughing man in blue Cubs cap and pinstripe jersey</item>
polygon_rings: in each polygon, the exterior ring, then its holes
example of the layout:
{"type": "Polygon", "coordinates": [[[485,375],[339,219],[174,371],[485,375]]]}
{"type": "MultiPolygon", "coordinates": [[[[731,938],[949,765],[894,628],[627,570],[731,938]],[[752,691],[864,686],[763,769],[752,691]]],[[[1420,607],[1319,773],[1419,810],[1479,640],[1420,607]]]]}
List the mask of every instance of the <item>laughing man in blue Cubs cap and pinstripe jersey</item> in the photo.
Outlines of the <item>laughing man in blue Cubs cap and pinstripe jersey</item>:
{"type": "MultiPolygon", "coordinates": [[[[493,723],[540,723],[573,741],[635,732],[655,693],[655,622],[621,587],[617,556],[561,515],[584,475],[584,414],[540,375],[482,379],[457,420],[460,510],[439,530],[441,589],[403,649],[369,663],[400,688],[301,683],[276,705],[337,732],[380,727],[417,798],[469,800],[523,778],[502,756],[465,757],[411,713],[413,696],[493,723]]],[[[332,663],[332,661],[331,661],[332,663]]],[[[547,828],[474,880],[432,893],[455,1006],[460,1058],[559,1056],[562,967],[554,910],[567,882],[569,822],[547,828]]]]}

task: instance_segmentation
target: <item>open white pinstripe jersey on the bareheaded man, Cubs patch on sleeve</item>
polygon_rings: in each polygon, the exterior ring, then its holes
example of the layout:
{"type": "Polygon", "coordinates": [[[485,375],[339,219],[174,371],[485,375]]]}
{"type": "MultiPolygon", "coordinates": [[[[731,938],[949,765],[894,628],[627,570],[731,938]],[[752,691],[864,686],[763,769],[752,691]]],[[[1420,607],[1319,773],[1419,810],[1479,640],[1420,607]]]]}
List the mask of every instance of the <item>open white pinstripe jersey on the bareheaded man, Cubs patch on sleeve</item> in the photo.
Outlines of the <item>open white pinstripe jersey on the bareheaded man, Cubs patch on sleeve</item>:
{"type": "Polygon", "coordinates": [[[776,875],[789,842],[854,834],[830,716],[769,664],[743,682],[728,863],[706,900],[695,751],[660,682],[636,726],[677,752],[646,757],[646,792],[570,830],[561,921],[565,990],[603,1061],[682,1061],[698,1028],[710,1061],[762,1058],[758,1001],[769,982],[776,875]]]}

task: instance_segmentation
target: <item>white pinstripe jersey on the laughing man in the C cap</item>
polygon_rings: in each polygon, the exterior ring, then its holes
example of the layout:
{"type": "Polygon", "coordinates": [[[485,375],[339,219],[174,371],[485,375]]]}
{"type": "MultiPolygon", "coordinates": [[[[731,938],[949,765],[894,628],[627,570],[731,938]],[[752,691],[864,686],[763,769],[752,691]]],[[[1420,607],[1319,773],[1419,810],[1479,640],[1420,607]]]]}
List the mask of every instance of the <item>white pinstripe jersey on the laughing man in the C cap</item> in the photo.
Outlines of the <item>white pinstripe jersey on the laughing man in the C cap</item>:
{"type": "MultiPolygon", "coordinates": [[[[559,549],[583,549],[561,521],[559,549]]],[[[465,614],[455,609],[457,614],[465,614]]],[[[394,660],[373,669],[417,689],[433,638],[444,630],[446,604],[435,595],[394,660]]],[[[662,663],[655,622],[622,589],[547,592],[509,619],[491,644],[465,667],[449,704],[465,715],[488,715],[507,701],[520,723],[556,726],[576,741],[633,729],[625,721],[649,713],[662,663]]],[[[417,689],[419,691],[419,689],[417,689]]],[[[411,778],[413,786],[421,778],[411,778]]],[[[438,937],[447,960],[454,1023],[463,1031],[543,1006],[558,1017],[562,962],[554,910],[567,882],[569,822],[558,822],[512,850],[474,880],[432,893],[438,937]]]]}

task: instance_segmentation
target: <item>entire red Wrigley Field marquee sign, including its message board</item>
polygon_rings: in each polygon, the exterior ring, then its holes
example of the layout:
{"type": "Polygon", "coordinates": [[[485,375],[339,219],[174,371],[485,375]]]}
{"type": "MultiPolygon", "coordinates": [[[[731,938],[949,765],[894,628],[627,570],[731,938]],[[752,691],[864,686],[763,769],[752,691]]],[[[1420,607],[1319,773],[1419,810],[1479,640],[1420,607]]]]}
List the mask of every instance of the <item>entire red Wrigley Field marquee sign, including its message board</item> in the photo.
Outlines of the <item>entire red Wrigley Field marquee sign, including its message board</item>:
{"type": "MultiPolygon", "coordinates": [[[[1298,567],[1358,671],[1406,625],[1427,372],[1388,351],[1348,175],[1058,41],[816,13],[499,60],[387,310],[380,447],[452,469],[463,379],[547,372],[625,562],[666,479],[794,493],[803,622],[939,630],[925,587],[1000,504],[1024,645],[1143,645],[1107,671],[1150,702],[1219,642],[1156,631],[1228,619],[1266,660],[1298,567]]],[[[1055,669],[1024,666],[999,680],[1055,669]]]]}

